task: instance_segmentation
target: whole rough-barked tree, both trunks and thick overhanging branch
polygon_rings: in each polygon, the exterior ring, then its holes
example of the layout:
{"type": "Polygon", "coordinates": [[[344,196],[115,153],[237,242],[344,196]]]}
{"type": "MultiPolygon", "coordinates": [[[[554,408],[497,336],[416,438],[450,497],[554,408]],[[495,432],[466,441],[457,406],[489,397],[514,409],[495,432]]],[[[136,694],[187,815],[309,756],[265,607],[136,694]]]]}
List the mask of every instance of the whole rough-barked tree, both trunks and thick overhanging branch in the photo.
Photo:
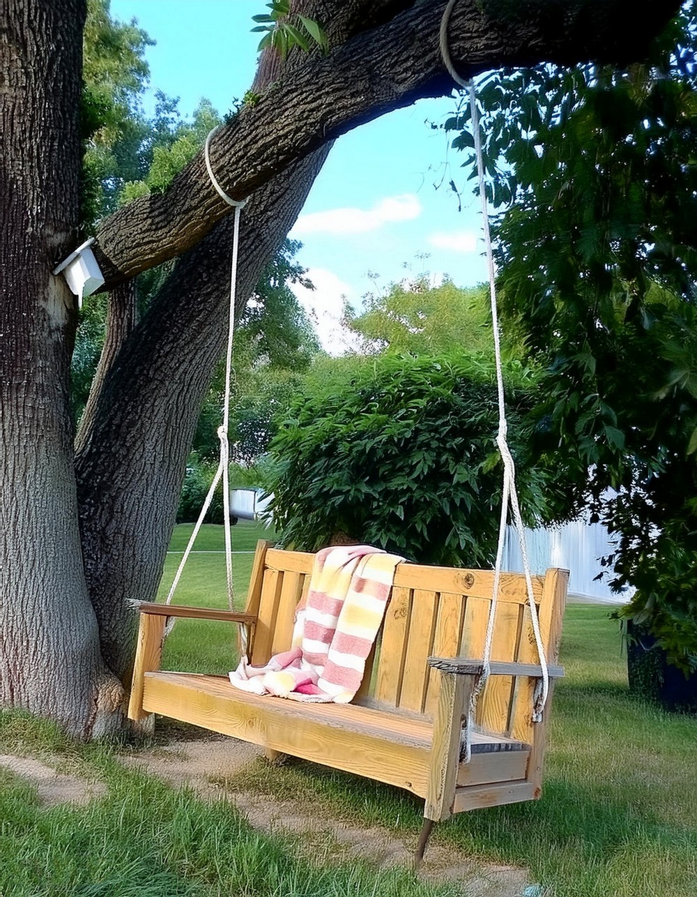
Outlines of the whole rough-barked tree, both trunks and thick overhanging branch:
{"type": "MultiPolygon", "coordinates": [[[[641,52],[678,4],[657,5],[461,0],[452,55],[471,74],[542,58],[612,59],[630,46],[641,52]]],[[[331,137],[450,91],[436,38],[443,7],[302,0],[305,13],[328,25],[331,56],[294,51],[285,64],[264,57],[255,82],[261,100],[213,146],[222,186],[252,194],[240,304],[294,222],[331,137]]],[[[230,219],[199,158],[165,196],[133,203],[100,227],[109,288],[185,254],[136,326],[126,319],[127,291],[112,296],[112,313],[125,317],[112,316],[73,459],[75,305],[50,270],[77,239],[83,18],[84,0],[0,7],[0,703],[89,735],[119,719],[111,674],[128,678],[127,599],[153,597],[162,570],[198,408],[225,339],[230,219]]]]}

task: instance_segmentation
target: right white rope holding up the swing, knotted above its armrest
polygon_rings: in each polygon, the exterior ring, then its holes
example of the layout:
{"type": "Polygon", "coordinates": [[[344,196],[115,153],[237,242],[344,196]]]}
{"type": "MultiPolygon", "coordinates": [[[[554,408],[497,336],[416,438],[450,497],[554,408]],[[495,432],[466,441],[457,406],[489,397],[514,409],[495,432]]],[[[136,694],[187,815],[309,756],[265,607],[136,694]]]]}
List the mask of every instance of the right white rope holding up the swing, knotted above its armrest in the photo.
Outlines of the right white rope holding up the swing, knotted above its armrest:
{"type": "Polygon", "coordinates": [[[477,173],[479,183],[479,199],[481,202],[482,219],[484,228],[484,241],[486,246],[486,265],[489,276],[489,292],[491,297],[491,319],[492,328],[494,330],[494,353],[496,363],[496,390],[498,394],[499,408],[499,427],[496,436],[496,445],[501,452],[503,460],[503,494],[501,503],[501,518],[499,521],[498,545],[496,548],[496,562],[494,569],[494,587],[492,589],[491,605],[489,607],[489,617],[486,623],[486,640],[484,645],[483,671],[478,679],[478,683],[472,692],[468,718],[465,727],[465,762],[469,762],[471,757],[471,732],[474,725],[475,711],[479,694],[484,689],[486,680],[491,673],[491,650],[494,641],[494,622],[496,614],[496,602],[498,599],[499,586],[501,583],[501,570],[503,567],[503,546],[506,536],[506,523],[508,520],[508,505],[511,504],[513,524],[518,540],[521,544],[521,558],[523,564],[523,572],[525,575],[525,583],[528,589],[528,604],[530,610],[530,622],[535,634],[535,644],[538,649],[539,665],[542,668],[542,689],[539,694],[534,696],[534,706],[532,710],[533,722],[539,722],[542,719],[542,711],[545,708],[547,694],[549,692],[549,674],[547,672],[545,646],[542,641],[542,635],[539,630],[538,609],[535,605],[535,596],[532,590],[532,576],[530,573],[528,550],[525,540],[525,527],[522,522],[521,509],[518,503],[518,491],[515,484],[515,464],[513,462],[511,450],[506,440],[508,432],[508,422],[506,421],[505,394],[503,390],[503,363],[501,360],[501,335],[498,323],[498,303],[496,301],[496,268],[494,262],[494,251],[491,244],[491,231],[489,230],[489,211],[486,205],[486,181],[484,172],[484,155],[482,152],[481,134],[479,131],[479,115],[477,109],[477,97],[474,89],[474,82],[470,79],[465,81],[452,65],[450,51],[448,49],[448,22],[452,13],[452,7],[456,0],[448,0],[443,11],[440,29],[440,47],[443,63],[451,75],[453,81],[466,87],[469,91],[469,109],[472,120],[472,135],[474,137],[475,156],[477,158],[477,173]]]}

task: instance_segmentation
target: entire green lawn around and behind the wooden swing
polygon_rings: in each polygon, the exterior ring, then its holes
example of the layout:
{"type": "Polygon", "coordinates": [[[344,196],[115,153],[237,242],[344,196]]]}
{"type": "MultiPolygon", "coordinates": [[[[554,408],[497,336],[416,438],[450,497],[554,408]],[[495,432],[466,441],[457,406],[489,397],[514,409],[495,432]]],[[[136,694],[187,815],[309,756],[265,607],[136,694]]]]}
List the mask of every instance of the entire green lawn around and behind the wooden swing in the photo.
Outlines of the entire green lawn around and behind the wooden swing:
{"type": "MultiPolygon", "coordinates": [[[[190,527],[177,527],[173,552],[190,527]]],[[[257,525],[240,521],[237,551],[253,551],[257,525]]],[[[206,527],[177,604],[226,606],[219,527],[206,527]]],[[[180,555],[168,555],[164,592],[180,555]]],[[[234,558],[236,605],[244,605],[252,554],[234,558]]],[[[234,633],[220,623],[182,621],[168,640],[170,668],[225,672],[234,633]]],[[[697,893],[697,719],[666,714],[629,696],[617,624],[599,605],[569,605],[541,801],[460,814],[434,839],[489,862],[530,869],[555,897],[694,897],[697,893]]],[[[45,724],[0,715],[0,753],[61,756],[103,779],[108,796],[87,809],[42,809],[31,789],[0,779],[0,895],[435,894],[406,872],[314,867],[288,842],[251,830],[236,814],[207,806],[142,774],[124,771],[115,748],[73,745],[45,724]]],[[[292,793],[361,825],[380,823],[416,840],[419,802],[309,763],[276,769],[258,762],[238,787],[269,799],[292,793]]]]}

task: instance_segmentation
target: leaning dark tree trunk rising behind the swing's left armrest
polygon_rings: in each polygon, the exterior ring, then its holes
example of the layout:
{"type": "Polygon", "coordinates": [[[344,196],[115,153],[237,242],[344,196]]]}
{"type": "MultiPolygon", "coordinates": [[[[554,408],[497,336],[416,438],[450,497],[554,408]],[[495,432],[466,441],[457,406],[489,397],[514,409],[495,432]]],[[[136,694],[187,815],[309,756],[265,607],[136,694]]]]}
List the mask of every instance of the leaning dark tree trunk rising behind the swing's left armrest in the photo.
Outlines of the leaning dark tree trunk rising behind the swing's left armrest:
{"type": "MultiPolygon", "coordinates": [[[[315,153],[245,206],[238,314],[325,156],[315,153]]],[[[102,650],[125,681],[133,659],[130,599],[151,601],[158,588],[186,456],[227,338],[231,224],[219,222],[176,264],[109,370],[76,457],[82,548],[102,650]]]]}

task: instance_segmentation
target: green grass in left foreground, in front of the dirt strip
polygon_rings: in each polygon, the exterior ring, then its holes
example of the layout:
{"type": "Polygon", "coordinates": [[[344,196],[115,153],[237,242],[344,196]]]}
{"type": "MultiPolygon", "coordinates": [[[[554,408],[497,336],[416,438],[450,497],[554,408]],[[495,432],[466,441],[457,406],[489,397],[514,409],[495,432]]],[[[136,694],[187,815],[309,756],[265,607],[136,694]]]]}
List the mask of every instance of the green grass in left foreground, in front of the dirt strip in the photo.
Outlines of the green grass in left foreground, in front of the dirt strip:
{"type": "Polygon", "coordinates": [[[292,840],[256,832],[228,804],[206,804],[116,762],[99,745],[68,745],[54,727],[0,713],[0,750],[67,748],[66,764],[99,777],[106,797],[42,808],[33,788],[0,777],[2,897],[436,897],[406,870],[319,867],[292,840]]]}

